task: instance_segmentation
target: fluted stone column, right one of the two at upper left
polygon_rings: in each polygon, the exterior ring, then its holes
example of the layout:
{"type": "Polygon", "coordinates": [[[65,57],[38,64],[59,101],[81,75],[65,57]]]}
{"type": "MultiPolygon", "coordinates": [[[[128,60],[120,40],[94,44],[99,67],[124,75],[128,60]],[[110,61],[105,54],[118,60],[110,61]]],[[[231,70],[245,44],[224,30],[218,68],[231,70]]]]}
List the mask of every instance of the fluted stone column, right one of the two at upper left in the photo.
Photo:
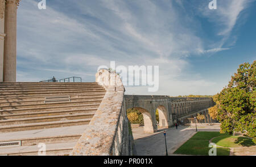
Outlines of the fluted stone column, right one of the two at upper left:
{"type": "Polygon", "coordinates": [[[16,82],[16,20],[19,0],[6,0],[3,81],[16,82]]]}

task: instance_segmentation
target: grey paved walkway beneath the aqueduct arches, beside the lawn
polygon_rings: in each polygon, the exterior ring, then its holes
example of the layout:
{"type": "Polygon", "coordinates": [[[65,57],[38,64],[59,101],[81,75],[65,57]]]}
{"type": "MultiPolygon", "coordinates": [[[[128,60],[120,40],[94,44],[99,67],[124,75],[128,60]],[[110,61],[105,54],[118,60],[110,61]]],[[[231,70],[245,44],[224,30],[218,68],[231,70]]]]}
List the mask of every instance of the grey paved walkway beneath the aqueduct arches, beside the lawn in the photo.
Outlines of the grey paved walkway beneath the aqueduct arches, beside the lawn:
{"type": "MultiPolygon", "coordinates": [[[[133,128],[134,143],[139,156],[164,156],[166,155],[166,146],[164,142],[164,129],[159,129],[154,134],[143,132],[143,127],[133,128]]],[[[167,130],[166,142],[168,155],[173,153],[196,134],[195,128],[187,126],[178,126],[178,129],[171,127],[167,130]]],[[[198,131],[219,131],[219,127],[204,127],[198,131]]]]}

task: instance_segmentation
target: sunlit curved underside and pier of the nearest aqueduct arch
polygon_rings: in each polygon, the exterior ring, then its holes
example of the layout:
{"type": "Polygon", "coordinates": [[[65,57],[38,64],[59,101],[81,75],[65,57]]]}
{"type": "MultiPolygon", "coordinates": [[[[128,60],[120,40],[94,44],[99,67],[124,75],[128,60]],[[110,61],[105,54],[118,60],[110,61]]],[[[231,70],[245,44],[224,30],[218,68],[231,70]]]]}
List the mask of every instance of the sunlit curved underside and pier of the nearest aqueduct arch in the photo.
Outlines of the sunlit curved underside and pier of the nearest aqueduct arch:
{"type": "Polygon", "coordinates": [[[157,126],[154,125],[155,121],[152,118],[152,114],[147,109],[144,109],[144,108],[135,107],[134,109],[139,110],[139,112],[141,112],[143,115],[144,132],[150,132],[150,133],[156,132],[157,126]]]}

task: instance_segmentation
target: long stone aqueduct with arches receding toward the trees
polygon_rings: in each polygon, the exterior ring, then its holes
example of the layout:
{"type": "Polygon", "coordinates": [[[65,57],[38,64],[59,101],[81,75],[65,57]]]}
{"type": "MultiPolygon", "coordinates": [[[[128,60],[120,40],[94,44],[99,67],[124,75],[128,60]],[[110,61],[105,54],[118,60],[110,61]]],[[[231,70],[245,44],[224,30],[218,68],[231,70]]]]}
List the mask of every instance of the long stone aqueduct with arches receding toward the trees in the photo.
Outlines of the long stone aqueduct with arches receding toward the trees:
{"type": "Polygon", "coordinates": [[[159,112],[159,127],[170,127],[175,121],[187,121],[197,113],[205,115],[205,122],[210,122],[208,108],[213,106],[212,98],[204,97],[169,97],[125,95],[125,108],[135,108],[143,114],[144,131],[156,132],[155,112],[159,112]]]}

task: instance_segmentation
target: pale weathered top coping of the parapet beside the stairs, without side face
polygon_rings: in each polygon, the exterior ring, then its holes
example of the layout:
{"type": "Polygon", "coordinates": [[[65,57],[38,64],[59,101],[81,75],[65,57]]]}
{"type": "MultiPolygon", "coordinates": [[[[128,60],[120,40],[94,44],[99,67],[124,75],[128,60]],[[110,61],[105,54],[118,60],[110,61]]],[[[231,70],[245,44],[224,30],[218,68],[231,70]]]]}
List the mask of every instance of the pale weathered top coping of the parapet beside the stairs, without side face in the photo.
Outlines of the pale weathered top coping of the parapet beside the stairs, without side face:
{"type": "Polygon", "coordinates": [[[104,86],[106,94],[71,155],[113,155],[125,88],[119,75],[104,69],[97,72],[96,82],[104,86]]]}

